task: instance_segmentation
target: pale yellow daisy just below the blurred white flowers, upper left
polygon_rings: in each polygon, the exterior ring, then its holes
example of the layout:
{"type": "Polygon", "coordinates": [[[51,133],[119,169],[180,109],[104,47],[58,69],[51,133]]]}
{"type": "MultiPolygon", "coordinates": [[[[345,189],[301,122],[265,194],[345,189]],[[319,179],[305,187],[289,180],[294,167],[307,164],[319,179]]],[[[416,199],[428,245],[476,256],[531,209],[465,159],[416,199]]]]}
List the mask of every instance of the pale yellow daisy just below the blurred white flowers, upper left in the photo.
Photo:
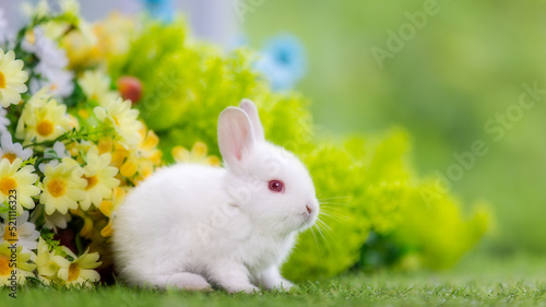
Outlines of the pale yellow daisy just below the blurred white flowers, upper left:
{"type": "Polygon", "coordinates": [[[50,99],[45,104],[38,99],[36,104],[25,105],[17,122],[15,137],[24,139],[26,143],[33,139],[36,142],[43,142],[57,139],[70,128],[71,120],[67,116],[66,105],[59,105],[56,99],[50,99]]]}

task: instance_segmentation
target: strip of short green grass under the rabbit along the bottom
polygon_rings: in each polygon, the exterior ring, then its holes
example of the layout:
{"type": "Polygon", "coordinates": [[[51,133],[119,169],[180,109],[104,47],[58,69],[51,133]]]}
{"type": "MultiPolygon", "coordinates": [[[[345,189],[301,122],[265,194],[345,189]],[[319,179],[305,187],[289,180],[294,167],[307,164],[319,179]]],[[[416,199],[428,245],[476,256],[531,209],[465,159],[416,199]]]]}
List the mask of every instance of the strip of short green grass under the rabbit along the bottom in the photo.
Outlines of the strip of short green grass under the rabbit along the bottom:
{"type": "Polygon", "coordinates": [[[546,261],[538,257],[465,259],[441,272],[349,273],[308,282],[289,293],[257,295],[133,290],[22,288],[16,300],[0,292],[0,306],[546,306],[546,261]],[[8,304],[5,304],[8,303],[8,304]]]}

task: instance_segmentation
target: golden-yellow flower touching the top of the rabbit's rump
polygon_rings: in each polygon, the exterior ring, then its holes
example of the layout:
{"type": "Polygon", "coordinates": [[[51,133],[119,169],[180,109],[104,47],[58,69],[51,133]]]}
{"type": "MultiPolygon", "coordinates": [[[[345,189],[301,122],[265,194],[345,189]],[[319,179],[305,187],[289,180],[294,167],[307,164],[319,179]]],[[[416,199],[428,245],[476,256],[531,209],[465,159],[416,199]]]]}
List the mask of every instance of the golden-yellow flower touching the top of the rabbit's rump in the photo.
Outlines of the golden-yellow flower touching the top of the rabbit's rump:
{"type": "Polygon", "coordinates": [[[162,152],[157,149],[159,138],[152,130],[146,132],[145,127],[139,133],[142,141],[134,149],[126,150],[118,145],[112,154],[114,165],[118,165],[119,173],[133,184],[152,175],[162,163],[162,152]]]}

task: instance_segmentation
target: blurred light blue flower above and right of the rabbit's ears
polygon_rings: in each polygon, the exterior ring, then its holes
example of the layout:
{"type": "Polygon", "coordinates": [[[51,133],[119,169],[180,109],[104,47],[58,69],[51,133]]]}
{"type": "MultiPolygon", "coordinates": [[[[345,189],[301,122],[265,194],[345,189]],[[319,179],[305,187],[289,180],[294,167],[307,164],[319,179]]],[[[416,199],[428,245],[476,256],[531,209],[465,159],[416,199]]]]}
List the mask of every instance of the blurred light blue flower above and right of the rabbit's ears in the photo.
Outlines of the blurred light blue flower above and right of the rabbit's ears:
{"type": "Polygon", "coordinates": [[[265,44],[256,67],[268,78],[272,90],[293,88],[306,73],[305,48],[295,36],[278,35],[265,44]]]}

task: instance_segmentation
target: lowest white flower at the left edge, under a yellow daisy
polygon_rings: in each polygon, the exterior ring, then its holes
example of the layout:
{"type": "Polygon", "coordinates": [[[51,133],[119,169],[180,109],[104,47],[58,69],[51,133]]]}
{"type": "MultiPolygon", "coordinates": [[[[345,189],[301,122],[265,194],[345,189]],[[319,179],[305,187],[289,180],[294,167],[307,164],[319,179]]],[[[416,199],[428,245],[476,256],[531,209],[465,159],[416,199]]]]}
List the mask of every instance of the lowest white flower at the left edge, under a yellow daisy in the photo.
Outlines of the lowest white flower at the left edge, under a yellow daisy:
{"type": "Polygon", "coordinates": [[[23,213],[16,217],[16,232],[10,232],[10,223],[8,223],[7,219],[8,216],[5,214],[2,214],[1,216],[4,222],[0,223],[0,244],[2,241],[17,239],[17,246],[22,246],[23,251],[29,251],[38,248],[39,232],[36,231],[36,225],[28,222],[28,211],[23,211],[23,213]]]}

